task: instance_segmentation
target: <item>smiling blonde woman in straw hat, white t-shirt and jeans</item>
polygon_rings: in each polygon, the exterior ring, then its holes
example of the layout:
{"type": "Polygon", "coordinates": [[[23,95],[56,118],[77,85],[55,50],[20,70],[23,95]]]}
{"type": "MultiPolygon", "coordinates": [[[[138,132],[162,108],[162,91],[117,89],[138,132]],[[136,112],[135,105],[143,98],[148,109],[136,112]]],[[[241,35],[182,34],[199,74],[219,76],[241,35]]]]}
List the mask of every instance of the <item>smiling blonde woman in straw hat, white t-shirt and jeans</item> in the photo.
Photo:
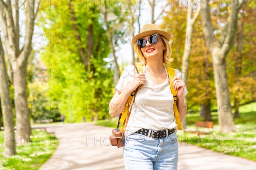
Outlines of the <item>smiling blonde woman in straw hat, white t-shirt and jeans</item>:
{"type": "MultiPolygon", "coordinates": [[[[133,37],[135,52],[143,65],[142,74],[134,74],[134,66],[123,71],[116,93],[110,102],[110,115],[122,112],[123,103],[139,85],[131,115],[125,128],[125,169],[175,170],[178,161],[177,124],[173,112],[173,95],[166,67],[172,60],[169,45],[171,35],[155,24],[145,24],[133,37]],[[158,132],[161,136],[153,136],[158,132]],[[168,134],[169,133],[169,134],[168,134]],[[166,134],[166,135],[164,135],[166,134]]],[[[182,75],[175,70],[172,79],[177,89],[177,108],[180,121],[186,115],[184,97],[187,90],[182,75]]]]}

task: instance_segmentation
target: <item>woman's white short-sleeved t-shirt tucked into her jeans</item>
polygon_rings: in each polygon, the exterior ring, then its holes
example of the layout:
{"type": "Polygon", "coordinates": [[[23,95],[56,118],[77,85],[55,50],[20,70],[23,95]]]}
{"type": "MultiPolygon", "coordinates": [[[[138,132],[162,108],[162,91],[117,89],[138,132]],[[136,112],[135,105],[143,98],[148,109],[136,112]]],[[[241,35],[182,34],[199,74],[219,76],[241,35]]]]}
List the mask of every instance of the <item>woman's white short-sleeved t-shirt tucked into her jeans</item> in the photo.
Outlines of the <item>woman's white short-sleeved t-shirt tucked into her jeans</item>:
{"type": "MultiPolygon", "coordinates": [[[[143,66],[143,72],[145,73],[145,66],[143,66]]],[[[180,71],[175,69],[175,74],[179,79],[183,80],[180,71]]],[[[135,75],[134,65],[126,67],[116,85],[116,89],[122,92],[135,75]]],[[[168,77],[167,70],[166,75],[168,77]]],[[[187,93],[188,91],[185,87],[183,95],[186,96],[187,93]]],[[[173,103],[174,99],[170,90],[168,78],[162,84],[157,85],[148,79],[146,75],[145,84],[141,86],[135,96],[135,102],[131,108],[131,115],[125,129],[125,136],[129,136],[142,128],[163,130],[177,127],[173,111],[173,103]]]]}

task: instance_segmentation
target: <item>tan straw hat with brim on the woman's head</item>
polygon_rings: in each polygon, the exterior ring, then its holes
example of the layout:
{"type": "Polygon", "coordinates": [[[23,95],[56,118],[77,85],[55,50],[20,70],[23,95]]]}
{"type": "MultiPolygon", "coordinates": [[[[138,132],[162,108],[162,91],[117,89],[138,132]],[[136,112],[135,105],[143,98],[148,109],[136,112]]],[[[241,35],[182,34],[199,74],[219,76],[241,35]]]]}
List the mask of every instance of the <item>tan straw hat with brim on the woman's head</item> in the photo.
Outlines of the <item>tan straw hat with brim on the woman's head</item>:
{"type": "Polygon", "coordinates": [[[171,34],[169,34],[166,31],[162,31],[161,28],[156,24],[145,24],[143,28],[140,30],[140,34],[135,35],[132,38],[131,42],[135,44],[137,40],[153,34],[162,35],[166,38],[167,41],[170,41],[171,39],[171,34]]]}

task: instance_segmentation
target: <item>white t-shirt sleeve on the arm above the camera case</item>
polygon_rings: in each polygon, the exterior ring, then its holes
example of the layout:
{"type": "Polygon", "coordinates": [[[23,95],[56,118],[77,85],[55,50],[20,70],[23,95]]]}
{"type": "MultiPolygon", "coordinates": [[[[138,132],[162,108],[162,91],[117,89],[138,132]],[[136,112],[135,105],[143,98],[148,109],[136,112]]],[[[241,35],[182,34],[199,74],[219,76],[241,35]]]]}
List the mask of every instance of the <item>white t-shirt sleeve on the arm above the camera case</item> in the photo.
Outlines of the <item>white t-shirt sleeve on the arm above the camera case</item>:
{"type": "Polygon", "coordinates": [[[134,72],[134,65],[127,66],[125,69],[122,70],[122,75],[116,85],[116,89],[122,92],[125,89],[126,85],[128,85],[135,76],[136,74],[134,72]]]}

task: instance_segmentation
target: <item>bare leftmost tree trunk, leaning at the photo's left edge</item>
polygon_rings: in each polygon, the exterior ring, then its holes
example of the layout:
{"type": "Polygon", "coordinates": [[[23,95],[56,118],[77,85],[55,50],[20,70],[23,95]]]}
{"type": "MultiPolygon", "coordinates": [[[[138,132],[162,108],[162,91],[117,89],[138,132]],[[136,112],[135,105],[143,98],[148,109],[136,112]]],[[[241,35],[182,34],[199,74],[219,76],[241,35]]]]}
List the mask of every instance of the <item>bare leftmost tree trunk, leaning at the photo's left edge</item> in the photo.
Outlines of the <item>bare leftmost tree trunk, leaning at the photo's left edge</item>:
{"type": "Polygon", "coordinates": [[[6,62],[4,59],[4,51],[3,51],[3,45],[2,45],[1,39],[0,39],[0,68],[1,68],[0,98],[1,98],[1,109],[3,111],[3,125],[4,125],[3,156],[9,157],[16,154],[15,133],[14,133],[14,119],[12,114],[12,101],[10,96],[6,62]],[[3,73],[4,71],[6,71],[6,74],[3,73]]]}

